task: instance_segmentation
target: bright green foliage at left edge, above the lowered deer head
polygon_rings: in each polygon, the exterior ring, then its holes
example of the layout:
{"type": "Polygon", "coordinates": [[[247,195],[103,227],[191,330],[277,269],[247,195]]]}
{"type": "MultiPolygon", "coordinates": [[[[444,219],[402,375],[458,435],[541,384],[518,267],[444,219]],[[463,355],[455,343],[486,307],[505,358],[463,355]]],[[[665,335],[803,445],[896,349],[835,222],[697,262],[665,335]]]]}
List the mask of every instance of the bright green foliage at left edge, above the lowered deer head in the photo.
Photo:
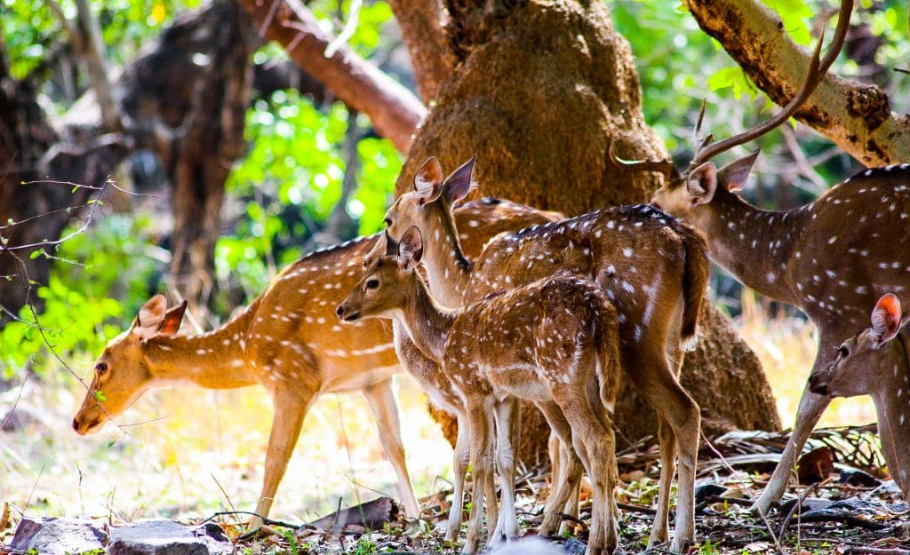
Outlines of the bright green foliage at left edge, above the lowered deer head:
{"type": "Polygon", "coordinates": [[[63,358],[75,353],[95,356],[129,324],[162,260],[160,249],[150,242],[150,225],[148,216],[101,217],[60,246],[47,284],[35,289],[45,305],[36,323],[26,306],[19,312],[23,321],[0,329],[0,368],[6,376],[29,360],[33,369],[45,371],[53,359],[45,341],[63,358]]]}

